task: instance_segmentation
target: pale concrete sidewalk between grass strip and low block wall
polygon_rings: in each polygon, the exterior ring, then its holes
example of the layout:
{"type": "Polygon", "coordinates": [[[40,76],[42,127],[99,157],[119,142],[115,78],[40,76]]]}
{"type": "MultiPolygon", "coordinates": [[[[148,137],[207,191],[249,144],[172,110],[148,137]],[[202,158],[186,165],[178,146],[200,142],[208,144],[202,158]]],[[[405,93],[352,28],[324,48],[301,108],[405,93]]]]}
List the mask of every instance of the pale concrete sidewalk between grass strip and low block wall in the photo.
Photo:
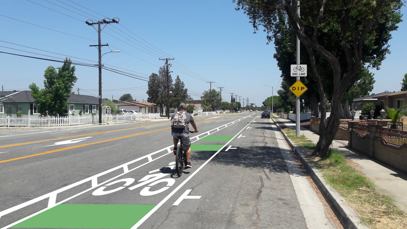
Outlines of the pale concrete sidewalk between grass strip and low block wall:
{"type": "MultiPolygon", "coordinates": [[[[273,119],[281,121],[286,126],[295,126],[295,123],[287,119],[280,117],[274,117],[273,119]]],[[[318,142],[319,135],[311,130],[300,128],[300,135],[302,134],[314,143],[318,142]]],[[[407,174],[352,150],[348,147],[348,141],[334,140],[331,148],[356,163],[356,168],[374,182],[379,193],[393,198],[400,209],[407,213],[407,174]]]]}

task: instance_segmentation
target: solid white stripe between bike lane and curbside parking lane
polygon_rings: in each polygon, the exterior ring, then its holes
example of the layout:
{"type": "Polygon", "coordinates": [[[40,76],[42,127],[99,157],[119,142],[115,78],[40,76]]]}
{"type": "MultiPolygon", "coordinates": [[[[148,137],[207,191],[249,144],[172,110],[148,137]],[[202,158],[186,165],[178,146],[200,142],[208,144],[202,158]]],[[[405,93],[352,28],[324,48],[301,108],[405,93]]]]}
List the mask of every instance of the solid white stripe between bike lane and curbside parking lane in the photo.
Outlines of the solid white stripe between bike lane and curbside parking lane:
{"type": "MultiPolygon", "coordinates": [[[[255,117],[254,119],[256,119],[257,117],[255,117]]],[[[220,150],[218,150],[207,161],[205,161],[204,164],[202,164],[197,170],[195,170],[195,172],[193,172],[190,176],[188,176],[180,185],[178,185],[178,187],[176,187],[170,194],[168,194],[168,196],[166,196],[163,200],[161,200],[161,202],[158,203],[158,205],[156,205],[153,209],[151,209],[151,211],[149,211],[149,213],[147,213],[143,218],[141,218],[133,227],[131,227],[131,229],[136,229],[136,228],[140,227],[140,225],[142,225],[142,223],[144,221],[146,221],[152,214],[154,214],[154,212],[157,211],[169,198],[171,198],[182,186],[184,186],[191,178],[193,178],[193,176],[195,176],[195,174],[197,174],[199,172],[199,170],[201,170],[206,164],[208,164],[209,161],[211,161],[217,154],[219,154],[219,152],[221,152],[223,150],[223,148],[225,148],[226,145],[228,145],[234,138],[236,138],[236,136],[238,136],[243,130],[245,130],[245,128],[247,128],[247,126],[249,126],[249,124],[252,123],[254,121],[254,119],[251,122],[249,122],[242,130],[240,130],[225,145],[223,145],[220,150]]]]}

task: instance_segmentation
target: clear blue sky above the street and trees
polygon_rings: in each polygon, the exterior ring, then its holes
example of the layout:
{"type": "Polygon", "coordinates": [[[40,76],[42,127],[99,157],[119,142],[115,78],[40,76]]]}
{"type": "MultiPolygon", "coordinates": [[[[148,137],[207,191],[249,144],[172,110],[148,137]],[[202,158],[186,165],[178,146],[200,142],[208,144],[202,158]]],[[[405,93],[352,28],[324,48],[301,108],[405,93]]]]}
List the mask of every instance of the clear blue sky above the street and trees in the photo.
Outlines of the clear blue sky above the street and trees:
{"type": "MultiPolygon", "coordinates": [[[[194,99],[209,89],[206,81],[215,81],[212,88],[224,87],[222,97],[226,101],[233,92],[261,105],[271,96],[271,88],[264,84],[274,87],[274,95],[280,89],[274,45],[266,45],[262,31],[253,34],[247,15],[234,10],[235,6],[232,0],[0,0],[0,51],[46,59],[70,56],[73,62],[97,64],[97,49],[89,46],[97,44],[97,32],[84,21],[117,17],[119,24],[108,24],[101,33],[102,43],[109,44],[102,47],[102,54],[121,52],[103,55],[105,66],[145,79],[163,66],[159,58],[175,58],[170,61],[171,75],[173,79],[179,75],[194,99]]],[[[372,70],[376,80],[373,93],[399,91],[407,73],[401,68],[407,59],[407,22],[399,26],[389,42],[392,53],[381,70],[372,70]]],[[[61,63],[0,53],[0,86],[4,90],[28,90],[34,82],[41,87],[44,70],[50,65],[58,67],[61,63]]],[[[98,69],[79,65],[76,69],[78,81],[73,90],[80,88],[81,95],[97,96],[98,69]]],[[[147,81],[107,70],[102,70],[102,81],[103,98],[119,99],[130,93],[138,101],[147,99],[147,81]]]]}

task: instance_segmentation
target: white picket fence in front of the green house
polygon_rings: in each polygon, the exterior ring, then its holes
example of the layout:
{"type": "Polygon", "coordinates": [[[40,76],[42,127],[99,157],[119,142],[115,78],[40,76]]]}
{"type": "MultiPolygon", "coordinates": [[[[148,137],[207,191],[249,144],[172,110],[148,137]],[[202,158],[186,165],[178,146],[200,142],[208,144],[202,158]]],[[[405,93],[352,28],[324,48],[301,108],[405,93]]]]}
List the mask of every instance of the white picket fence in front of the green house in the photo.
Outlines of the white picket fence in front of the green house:
{"type": "MultiPolygon", "coordinates": [[[[102,115],[102,123],[140,121],[141,113],[137,114],[116,114],[102,115]]],[[[60,117],[37,117],[37,116],[0,116],[0,126],[22,126],[22,127],[44,127],[44,126],[78,126],[86,124],[98,124],[98,115],[75,115],[60,117]]]]}

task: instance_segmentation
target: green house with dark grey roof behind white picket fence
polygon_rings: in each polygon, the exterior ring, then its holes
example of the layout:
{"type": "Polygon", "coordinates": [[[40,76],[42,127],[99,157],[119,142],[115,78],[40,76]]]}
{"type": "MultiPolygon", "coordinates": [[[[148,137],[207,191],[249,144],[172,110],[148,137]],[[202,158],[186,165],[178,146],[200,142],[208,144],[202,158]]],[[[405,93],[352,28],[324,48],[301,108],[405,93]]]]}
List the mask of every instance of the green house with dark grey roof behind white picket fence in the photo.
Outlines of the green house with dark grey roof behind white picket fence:
{"type": "MultiPolygon", "coordinates": [[[[70,94],[64,112],[67,115],[78,115],[81,110],[81,114],[97,113],[98,103],[99,99],[94,96],[70,94]]],[[[15,116],[18,110],[23,116],[39,115],[31,90],[0,92],[0,116],[15,116]]]]}

